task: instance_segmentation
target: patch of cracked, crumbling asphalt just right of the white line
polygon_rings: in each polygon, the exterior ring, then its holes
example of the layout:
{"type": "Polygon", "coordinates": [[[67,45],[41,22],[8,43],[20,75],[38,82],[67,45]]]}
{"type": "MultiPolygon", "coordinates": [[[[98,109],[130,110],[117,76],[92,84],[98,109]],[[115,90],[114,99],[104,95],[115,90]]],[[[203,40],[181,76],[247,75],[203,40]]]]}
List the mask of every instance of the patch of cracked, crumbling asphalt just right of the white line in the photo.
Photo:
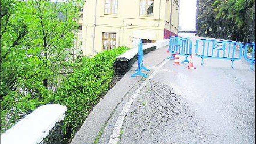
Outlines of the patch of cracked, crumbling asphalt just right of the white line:
{"type": "Polygon", "coordinates": [[[120,143],[206,143],[215,137],[189,110],[186,99],[150,81],[127,114],[120,143]]]}

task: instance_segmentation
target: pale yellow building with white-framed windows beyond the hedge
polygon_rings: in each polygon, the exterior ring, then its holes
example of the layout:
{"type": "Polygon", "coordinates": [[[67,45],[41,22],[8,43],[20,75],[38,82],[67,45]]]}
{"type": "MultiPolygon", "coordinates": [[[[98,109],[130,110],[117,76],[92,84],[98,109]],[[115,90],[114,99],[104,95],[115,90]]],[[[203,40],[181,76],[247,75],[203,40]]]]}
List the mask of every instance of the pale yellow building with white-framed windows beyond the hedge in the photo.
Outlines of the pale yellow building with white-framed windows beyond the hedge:
{"type": "Polygon", "coordinates": [[[178,33],[179,0],[86,0],[81,27],[83,54],[118,46],[133,47],[138,39],[155,42],[178,33]]]}

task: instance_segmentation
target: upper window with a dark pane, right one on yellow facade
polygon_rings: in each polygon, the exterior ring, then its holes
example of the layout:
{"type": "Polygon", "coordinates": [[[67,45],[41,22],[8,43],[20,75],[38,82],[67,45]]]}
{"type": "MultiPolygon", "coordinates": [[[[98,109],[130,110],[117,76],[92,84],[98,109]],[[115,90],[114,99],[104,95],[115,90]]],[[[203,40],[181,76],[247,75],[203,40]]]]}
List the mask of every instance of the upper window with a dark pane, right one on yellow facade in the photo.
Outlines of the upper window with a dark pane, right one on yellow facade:
{"type": "Polygon", "coordinates": [[[153,15],[154,0],[140,0],[140,15],[153,15]]]}

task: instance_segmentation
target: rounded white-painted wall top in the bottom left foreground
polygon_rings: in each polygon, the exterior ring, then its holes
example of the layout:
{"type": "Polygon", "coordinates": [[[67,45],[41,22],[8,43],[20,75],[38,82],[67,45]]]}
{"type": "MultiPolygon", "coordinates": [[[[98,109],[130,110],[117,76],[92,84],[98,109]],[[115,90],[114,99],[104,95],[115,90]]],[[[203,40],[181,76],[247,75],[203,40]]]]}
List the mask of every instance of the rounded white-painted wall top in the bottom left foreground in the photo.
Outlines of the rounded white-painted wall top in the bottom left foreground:
{"type": "Polygon", "coordinates": [[[47,104],[38,107],[1,135],[1,144],[37,144],[55,124],[65,118],[66,106],[47,104]]]}

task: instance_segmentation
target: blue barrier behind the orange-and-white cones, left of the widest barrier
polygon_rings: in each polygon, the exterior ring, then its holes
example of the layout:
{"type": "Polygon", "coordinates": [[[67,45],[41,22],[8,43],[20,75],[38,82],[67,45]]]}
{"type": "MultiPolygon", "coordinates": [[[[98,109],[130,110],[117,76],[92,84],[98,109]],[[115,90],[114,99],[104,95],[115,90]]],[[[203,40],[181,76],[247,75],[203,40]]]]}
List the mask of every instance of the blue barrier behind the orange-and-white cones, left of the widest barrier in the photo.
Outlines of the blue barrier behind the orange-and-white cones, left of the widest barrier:
{"type": "Polygon", "coordinates": [[[181,63],[188,63],[188,56],[192,54],[192,41],[189,38],[182,38],[178,36],[170,37],[169,53],[171,56],[167,59],[174,59],[173,54],[178,53],[179,55],[185,56],[185,60],[181,63]]]}

